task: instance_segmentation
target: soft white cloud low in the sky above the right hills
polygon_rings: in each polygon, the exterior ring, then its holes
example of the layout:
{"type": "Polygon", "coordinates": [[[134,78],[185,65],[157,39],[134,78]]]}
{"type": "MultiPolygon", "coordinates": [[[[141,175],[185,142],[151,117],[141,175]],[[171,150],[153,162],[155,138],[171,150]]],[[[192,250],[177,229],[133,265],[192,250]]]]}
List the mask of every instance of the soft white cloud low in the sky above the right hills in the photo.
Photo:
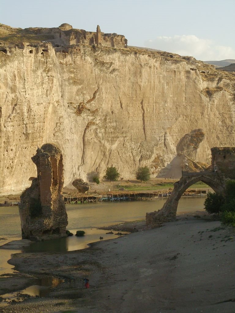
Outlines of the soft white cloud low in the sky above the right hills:
{"type": "Polygon", "coordinates": [[[159,36],[144,44],[148,48],[189,55],[203,61],[235,59],[235,50],[231,47],[219,46],[212,40],[198,38],[195,35],[159,36]]]}

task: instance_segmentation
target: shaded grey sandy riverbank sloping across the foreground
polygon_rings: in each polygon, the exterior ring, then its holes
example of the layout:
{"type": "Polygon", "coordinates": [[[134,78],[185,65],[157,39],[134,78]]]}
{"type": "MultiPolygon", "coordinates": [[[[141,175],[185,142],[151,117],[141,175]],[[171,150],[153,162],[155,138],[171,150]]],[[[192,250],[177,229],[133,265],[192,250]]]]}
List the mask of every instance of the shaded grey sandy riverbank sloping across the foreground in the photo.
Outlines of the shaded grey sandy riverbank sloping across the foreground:
{"type": "Polygon", "coordinates": [[[65,282],[45,298],[30,297],[0,312],[232,313],[235,234],[201,214],[152,230],[140,227],[89,249],[16,254],[10,263],[21,274],[1,278],[1,294],[34,285],[35,277],[65,282]],[[71,276],[88,277],[91,288],[84,289],[78,278],[69,288],[71,276]]]}

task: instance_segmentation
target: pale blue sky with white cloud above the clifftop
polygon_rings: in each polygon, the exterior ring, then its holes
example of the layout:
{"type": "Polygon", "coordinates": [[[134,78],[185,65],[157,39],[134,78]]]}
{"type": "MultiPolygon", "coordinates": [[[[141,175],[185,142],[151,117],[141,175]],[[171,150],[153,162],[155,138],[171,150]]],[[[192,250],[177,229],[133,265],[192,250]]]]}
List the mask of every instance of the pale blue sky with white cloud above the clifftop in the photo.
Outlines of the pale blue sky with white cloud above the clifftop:
{"type": "Polygon", "coordinates": [[[0,0],[0,23],[125,35],[128,45],[196,59],[235,59],[234,0],[0,0]]]}

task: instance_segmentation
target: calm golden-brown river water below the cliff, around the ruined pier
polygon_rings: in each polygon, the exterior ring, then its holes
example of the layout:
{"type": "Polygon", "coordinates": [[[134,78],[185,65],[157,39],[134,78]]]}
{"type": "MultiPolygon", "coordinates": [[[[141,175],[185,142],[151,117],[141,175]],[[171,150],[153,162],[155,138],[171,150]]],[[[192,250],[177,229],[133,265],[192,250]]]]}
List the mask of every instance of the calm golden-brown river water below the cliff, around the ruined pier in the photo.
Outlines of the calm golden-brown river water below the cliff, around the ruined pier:
{"type": "MultiPolygon", "coordinates": [[[[159,210],[165,201],[166,198],[160,198],[155,201],[66,204],[68,214],[67,229],[74,234],[77,230],[84,230],[85,236],[72,236],[46,242],[36,242],[31,244],[30,248],[25,251],[0,249],[0,275],[13,272],[12,265],[7,263],[12,253],[84,249],[87,247],[87,244],[99,241],[100,236],[104,240],[117,237],[115,234],[107,235],[107,231],[97,229],[97,227],[144,219],[146,212],[159,210]]],[[[177,214],[203,210],[204,201],[205,196],[181,198],[177,214]]],[[[18,207],[0,207],[0,238],[7,239],[1,240],[0,245],[21,239],[18,207]]]]}

